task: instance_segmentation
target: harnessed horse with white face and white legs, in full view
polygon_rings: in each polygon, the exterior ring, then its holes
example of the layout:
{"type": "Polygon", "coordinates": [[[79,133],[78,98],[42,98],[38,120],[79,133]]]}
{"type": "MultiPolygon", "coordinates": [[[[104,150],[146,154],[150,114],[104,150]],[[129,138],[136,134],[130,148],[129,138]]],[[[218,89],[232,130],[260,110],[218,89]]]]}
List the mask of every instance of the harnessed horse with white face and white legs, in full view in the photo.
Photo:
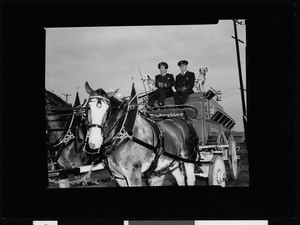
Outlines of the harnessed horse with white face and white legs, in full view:
{"type": "Polygon", "coordinates": [[[116,92],[93,90],[87,82],[85,89],[89,94],[88,145],[107,154],[106,166],[119,186],[142,186],[142,175],[146,175],[148,185],[161,186],[164,175],[159,172],[165,169],[172,173],[178,185],[195,184],[194,164],[170,157],[196,158],[198,137],[187,121],[170,118],[154,123],[140,112],[129,118],[130,109],[137,106],[126,99],[116,99],[116,92]],[[127,132],[124,126],[132,121],[132,132],[127,132]],[[161,148],[155,152],[154,146],[159,143],[161,148]],[[148,173],[151,169],[153,176],[151,171],[148,173]]]}

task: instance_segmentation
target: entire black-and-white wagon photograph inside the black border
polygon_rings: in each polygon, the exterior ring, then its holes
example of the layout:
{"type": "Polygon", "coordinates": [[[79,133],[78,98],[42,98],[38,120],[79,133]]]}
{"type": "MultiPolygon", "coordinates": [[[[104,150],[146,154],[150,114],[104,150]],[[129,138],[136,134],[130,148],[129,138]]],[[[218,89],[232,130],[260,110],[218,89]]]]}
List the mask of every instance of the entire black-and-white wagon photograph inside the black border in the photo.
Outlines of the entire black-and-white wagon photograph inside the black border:
{"type": "Polygon", "coordinates": [[[245,49],[244,19],[46,28],[49,188],[248,187],[245,49]]]}

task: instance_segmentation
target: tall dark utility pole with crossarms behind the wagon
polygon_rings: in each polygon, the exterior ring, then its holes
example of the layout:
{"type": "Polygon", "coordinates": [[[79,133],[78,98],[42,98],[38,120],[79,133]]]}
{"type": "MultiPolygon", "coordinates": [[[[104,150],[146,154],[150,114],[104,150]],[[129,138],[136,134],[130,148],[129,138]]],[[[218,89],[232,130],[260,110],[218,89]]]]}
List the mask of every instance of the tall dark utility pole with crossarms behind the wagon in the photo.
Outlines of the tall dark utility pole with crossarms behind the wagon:
{"type": "Polygon", "coordinates": [[[239,40],[238,34],[237,34],[237,27],[236,24],[243,25],[242,22],[239,22],[238,20],[233,20],[233,27],[234,27],[234,37],[231,36],[233,39],[235,39],[235,45],[236,45],[236,55],[237,55],[237,63],[238,63],[238,70],[239,70],[239,80],[240,80],[240,90],[241,90],[241,98],[242,98],[242,107],[243,107],[243,122],[244,122],[244,131],[245,131],[245,137],[247,137],[247,112],[246,112],[246,104],[245,104],[245,94],[244,94],[244,85],[243,85],[243,78],[242,78],[242,69],[241,69],[241,60],[240,60],[240,50],[239,50],[239,42],[243,43],[243,41],[239,40]]]}

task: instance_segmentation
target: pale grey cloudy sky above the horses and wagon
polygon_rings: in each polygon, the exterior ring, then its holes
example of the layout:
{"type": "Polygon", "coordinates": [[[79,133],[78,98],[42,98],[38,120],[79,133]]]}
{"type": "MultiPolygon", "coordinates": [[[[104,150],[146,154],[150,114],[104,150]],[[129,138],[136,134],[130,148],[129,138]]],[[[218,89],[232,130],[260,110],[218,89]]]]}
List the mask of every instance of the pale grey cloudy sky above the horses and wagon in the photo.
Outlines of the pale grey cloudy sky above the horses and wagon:
{"type": "MultiPolygon", "coordinates": [[[[243,20],[240,20],[243,21],[243,20]]],[[[237,25],[244,88],[245,25],[237,25]]],[[[130,95],[134,82],[137,92],[144,92],[141,81],[159,74],[158,63],[167,62],[168,73],[180,73],[177,63],[187,60],[188,70],[199,74],[207,67],[205,90],[222,91],[219,102],[243,131],[242,103],[232,20],[214,25],[122,26],[46,28],[47,90],[74,102],[76,91],[80,100],[88,97],[84,84],[93,89],[116,90],[130,95]],[[140,74],[141,72],[141,74],[140,74]]]]}

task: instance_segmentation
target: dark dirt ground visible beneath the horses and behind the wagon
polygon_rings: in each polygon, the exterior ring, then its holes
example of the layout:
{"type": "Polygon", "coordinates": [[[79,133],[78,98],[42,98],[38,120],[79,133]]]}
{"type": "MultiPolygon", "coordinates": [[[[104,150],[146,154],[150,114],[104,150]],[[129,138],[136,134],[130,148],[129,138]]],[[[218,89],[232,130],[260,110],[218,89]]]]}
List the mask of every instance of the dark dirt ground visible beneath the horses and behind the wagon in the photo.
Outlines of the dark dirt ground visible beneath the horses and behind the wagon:
{"type": "MultiPolygon", "coordinates": [[[[240,156],[238,163],[238,177],[235,181],[227,180],[226,187],[248,187],[249,186],[249,162],[248,153],[246,149],[241,148],[237,152],[240,156]]],[[[74,179],[74,178],[73,178],[74,179]]],[[[78,179],[78,177],[75,177],[78,179]]],[[[72,179],[71,179],[72,180],[72,179]]],[[[176,186],[176,180],[172,174],[167,174],[163,186],[176,186]]],[[[207,179],[197,177],[196,186],[206,186],[207,179]]],[[[92,172],[91,181],[89,185],[84,188],[98,188],[98,187],[117,187],[116,181],[110,180],[110,174],[107,170],[92,172]]],[[[58,188],[57,184],[49,183],[49,188],[58,188]]],[[[83,188],[82,186],[71,185],[71,188],[83,188]]]]}

